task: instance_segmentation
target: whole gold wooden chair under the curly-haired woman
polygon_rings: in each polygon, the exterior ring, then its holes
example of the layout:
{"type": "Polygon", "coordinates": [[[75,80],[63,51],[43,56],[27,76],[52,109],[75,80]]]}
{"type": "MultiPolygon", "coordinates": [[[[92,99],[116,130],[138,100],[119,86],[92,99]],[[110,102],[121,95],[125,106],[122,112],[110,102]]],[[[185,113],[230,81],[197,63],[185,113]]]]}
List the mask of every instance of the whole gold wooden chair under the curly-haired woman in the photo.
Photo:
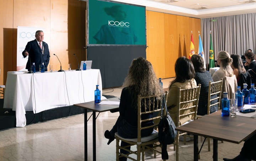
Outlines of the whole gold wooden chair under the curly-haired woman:
{"type": "MultiPolygon", "coordinates": [[[[167,97],[167,94],[168,94],[168,92],[166,91],[166,97],[167,97]]],[[[144,161],[145,160],[145,157],[144,157],[145,151],[150,150],[150,149],[154,150],[154,157],[156,157],[156,152],[161,154],[161,150],[159,151],[156,149],[157,147],[160,147],[160,148],[162,147],[162,145],[158,141],[158,131],[154,130],[153,133],[151,133],[149,136],[141,137],[141,131],[143,129],[158,127],[158,123],[151,125],[151,126],[141,127],[142,122],[160,119],[161,116],[155,116],[151,119],[144,119],[144,120],[141,117],[143,114],[161,112],[162,99],[156,100],[156,97],[162,98],[162,96],[148,96],[148,97],[138,96],[138,137],[134,138],[134,139],[127,139],[127,138],[123,138],[123,137],[119,136],[118,133],[115,134],[115,137],[116,137],[116,160],[117,161],[119,161],[119,156],[127,157],[133,161],[139,161],[140,153],[142,153],[142,161],[144,161]],[[143,104],[142,104],[142,102],[143,102],[143,104]],[[146,103],[148,103],[148,106],[146,105],[146,103]],[[145,112],[142,112],[142,109],[145,112]],[[129,143],[130,145],[122,147],[119,145],[119,140],[129,143]],[[132,150],[126,149],[127,147],[132,146],[132,145],[137,145],[137,151],[132,151],[132,150]],[[149,146],[149,145],[152,145],[152,146],[149,146]],[[122,154],[119,152],[119,149],[124,149],[124,150],[128,151],[129,153],[122,154]],[[137,155],[137,159],[133,159],[132,157],[129,157],[128,155],[130,155],[130,154],[137,155]]]]}

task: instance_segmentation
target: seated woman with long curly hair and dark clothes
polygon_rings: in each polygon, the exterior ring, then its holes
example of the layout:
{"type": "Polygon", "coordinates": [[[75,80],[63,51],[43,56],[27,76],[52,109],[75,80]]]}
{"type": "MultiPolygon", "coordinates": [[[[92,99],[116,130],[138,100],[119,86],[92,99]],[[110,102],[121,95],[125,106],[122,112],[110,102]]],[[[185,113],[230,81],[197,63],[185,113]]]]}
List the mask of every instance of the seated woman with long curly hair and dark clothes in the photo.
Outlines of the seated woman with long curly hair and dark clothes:
{"type": "MultiPolygon", "coordinates": [[[[152,96],[163,94],[162,87],[159,85],[158,79],[154,73],[153,67],[149,61],[139,57],[132,61],[129,67],[128,75],[123,83],[123,90],[121,93],[120,105],[119,105],[119,117],[113,126],[111,131],[105,131],[105,138],[109,139],[107,144],[110,144],[114,140],[115,133],[123,138],[137,138],[138,129],[138,95],[152,96]]],[[[157,98],[162,99],[162,98],[157,98]]],[[[143,112],[143,109],[142,109],[143,112]]],[[[143,117],[151,118],[152,113],[145,114],[143,117]]],[[[147,121],[142,123],[143,126],[148,126],[153,121],[147,121]]],[[[141,131],[142,137],[150,135],[154,130],[153,128],[145,129],[141,131]]],[[[121,146],[128,145],[125,142],[121,142],[121,146]]],[[[128,147],[127,149],[129,149],[128,147]]],[[[127,151],[121,149],[121,153],[126,154],[127,151]]],[[[119,160],[127,160],[125,157],[120,157],[119,160]]]]}

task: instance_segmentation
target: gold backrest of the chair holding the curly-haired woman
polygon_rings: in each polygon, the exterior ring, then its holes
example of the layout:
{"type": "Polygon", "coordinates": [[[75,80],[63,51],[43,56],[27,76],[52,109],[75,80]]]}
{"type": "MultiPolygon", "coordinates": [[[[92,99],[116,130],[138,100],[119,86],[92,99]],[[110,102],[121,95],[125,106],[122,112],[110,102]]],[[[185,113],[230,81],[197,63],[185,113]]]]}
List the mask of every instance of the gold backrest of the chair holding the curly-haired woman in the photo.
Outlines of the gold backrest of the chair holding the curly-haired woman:
{"type": "MultiPolygon", "coordinates": [[[[167,92],[167,94],[168,94],[168,92],[167,92]]],[[[138,137],[137,137],[137,142],[141,142],[141,131],[143,129],[158,127],[159,123],[155,123],[154,125],[142,127],[142,122],[160,119],[161,116],[156,115],[155,117],[152,117],[150,119],[143,119],[142,115],[161,112],[162,97],[163,97],[162,94],[159,96],[157,96],[157,95],[146,96],[146,97],[138,96],[138,137]],[[160,98],[160,99],[157,99],[157,98],[160,98]]]]}

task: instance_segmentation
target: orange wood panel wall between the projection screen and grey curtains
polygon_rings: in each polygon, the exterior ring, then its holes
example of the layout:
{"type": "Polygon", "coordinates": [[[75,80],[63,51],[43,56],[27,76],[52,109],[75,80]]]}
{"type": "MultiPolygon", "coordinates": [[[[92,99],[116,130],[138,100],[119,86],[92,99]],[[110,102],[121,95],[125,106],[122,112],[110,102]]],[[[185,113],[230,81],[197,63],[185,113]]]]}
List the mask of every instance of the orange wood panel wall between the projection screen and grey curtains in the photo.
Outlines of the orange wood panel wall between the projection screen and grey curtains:
{"type": "Polygon", "coordinates": [[[152,63],[157,77],[175,77],[176,59],[180,56],[189,58],[191,31],[195,52],[198,52],[200,19],[154,11],[146,11],[146,16],[146,59],[152,63]]]}

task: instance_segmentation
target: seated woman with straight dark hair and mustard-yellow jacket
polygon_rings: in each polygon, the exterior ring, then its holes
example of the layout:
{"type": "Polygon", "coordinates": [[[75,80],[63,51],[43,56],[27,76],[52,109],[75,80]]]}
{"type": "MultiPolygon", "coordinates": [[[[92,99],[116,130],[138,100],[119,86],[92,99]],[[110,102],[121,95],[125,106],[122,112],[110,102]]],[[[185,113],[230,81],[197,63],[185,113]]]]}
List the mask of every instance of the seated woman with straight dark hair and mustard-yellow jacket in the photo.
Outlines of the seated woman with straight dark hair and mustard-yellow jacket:
{"type": "MultiPolygon", "coordinates": [[[[178,87],[181,89],[196,87],[196,80],[194,80],[194,67],[190,59],[186,57],[179,57],[175,63],[175,74],[176,77],[173,81],[171,81],[169,85],[169,93],[167,98],[167,108],[169,114],[174,121],[175,125],[177,122],[177,97],[178,97],[178,87]]],[[[182,107],[184,108],[184,107],[182,107]]],[[[182,110],[180,114],[190,113],[190,110],[182,110]]],[[[183,123],[191,120],[192,116],[180,117],[179,124],[182,125],[183,123]]]]}

